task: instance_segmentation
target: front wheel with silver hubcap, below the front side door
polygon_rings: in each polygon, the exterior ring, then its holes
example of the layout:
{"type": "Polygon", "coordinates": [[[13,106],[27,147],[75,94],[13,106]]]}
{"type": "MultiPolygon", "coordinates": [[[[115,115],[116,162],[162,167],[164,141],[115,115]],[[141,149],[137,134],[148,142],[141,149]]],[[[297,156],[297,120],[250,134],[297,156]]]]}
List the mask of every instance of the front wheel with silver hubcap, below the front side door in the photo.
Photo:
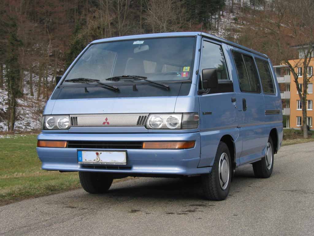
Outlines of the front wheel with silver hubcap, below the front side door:
{"type": "Polygon", "coordinates": [[[205,198],[216,201],[224,200],[229,194],[231,176],[232,163],[229,148],[227,144],[220,142],[212,171],[209,174],[202,175],[202,187],[205,198]]]}

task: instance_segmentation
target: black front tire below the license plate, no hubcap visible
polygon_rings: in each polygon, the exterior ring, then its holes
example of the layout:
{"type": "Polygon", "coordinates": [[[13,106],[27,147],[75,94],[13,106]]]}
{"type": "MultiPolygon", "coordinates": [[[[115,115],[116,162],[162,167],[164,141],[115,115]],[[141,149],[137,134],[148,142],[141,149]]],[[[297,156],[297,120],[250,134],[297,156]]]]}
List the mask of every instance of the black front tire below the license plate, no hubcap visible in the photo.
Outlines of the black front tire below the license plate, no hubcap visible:
{"type": "Polygon", "coordinates": [[[113,178],[100,172],[78,172],[82,188],[90,194],[103,194],[110,188],[113,178]]]}

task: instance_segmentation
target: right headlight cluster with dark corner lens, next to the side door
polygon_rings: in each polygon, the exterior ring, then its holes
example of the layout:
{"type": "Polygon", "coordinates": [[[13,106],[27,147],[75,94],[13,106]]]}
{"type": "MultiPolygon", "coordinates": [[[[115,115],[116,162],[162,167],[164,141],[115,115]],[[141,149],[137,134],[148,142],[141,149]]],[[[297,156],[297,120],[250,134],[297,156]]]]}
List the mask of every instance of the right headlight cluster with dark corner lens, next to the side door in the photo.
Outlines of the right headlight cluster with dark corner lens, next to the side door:
{"type": "Polygon", "coordinates": [[[198,113],[149,114],[147,129],[197,129],[198,113]]]}

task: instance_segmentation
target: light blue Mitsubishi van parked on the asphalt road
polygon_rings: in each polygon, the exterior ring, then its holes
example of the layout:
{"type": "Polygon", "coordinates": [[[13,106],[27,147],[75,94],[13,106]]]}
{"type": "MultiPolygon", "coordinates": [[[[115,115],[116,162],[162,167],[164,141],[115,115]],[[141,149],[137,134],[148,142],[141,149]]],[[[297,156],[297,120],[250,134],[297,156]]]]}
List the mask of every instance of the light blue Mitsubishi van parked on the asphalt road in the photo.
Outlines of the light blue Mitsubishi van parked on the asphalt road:
{"type": "Polygon", "coordinates": [[[37,153],[89,193],[127,176],[200,176],[205,197],[223,200],[237,166],[272,174],[282,106],[265,54],[200,32],[115,37],[59,79],[37,153]]]}

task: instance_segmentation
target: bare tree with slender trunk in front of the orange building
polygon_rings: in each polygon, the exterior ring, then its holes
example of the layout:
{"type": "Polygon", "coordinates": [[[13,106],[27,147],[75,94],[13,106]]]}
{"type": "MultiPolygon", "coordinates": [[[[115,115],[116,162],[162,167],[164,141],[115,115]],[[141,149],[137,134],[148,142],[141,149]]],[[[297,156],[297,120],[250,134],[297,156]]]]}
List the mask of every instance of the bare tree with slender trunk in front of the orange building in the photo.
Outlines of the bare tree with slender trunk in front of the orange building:
{"type": "MultiPolygon", "coordinates": [[[[290,68],[296,89],[302,103],[302,128],[304,138],[307,133],[306,101],[308,83],[312,74],[308,67],[313,57],[314,47],[314,2],[312,0],[273,0],[273,9],[256,16],[256,31],[252,44],[264,45],[262,51],[269,51],[272,58],[290,68]],[[257,41],[259,43],[257,44],[257,41]],[[267,43],[266,43],[267,42],[267,43]],[[299,58],[299,59],[295,59],[299,58]],[[303,68],[303,73],[298,67],[303,68]],[[299,84],[303,83],[302,88],[299,84]]],[[[252,25],[251,25],[252,27],[252,25]]]]}

